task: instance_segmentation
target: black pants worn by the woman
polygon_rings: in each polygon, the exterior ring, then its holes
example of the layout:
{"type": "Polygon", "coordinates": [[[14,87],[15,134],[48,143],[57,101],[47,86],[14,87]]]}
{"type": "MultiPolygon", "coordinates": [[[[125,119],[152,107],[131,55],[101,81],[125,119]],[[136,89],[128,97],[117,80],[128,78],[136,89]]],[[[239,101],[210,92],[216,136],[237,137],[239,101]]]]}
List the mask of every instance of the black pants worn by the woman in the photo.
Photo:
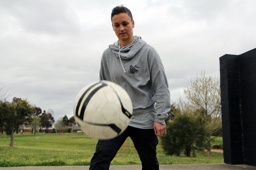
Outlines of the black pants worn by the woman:
{"type": "Polygon", "coordinates": [[[98,141],[96,152],[91,158],[89,170],[108,170],[110,162],[116,156],[127,137],[132,139],[138,151],[142,170],[159,170],[156,151],[158,138],[154,133],[154,129],[138,129],[131,126],[128,126],[118,137],[98,141]]]}

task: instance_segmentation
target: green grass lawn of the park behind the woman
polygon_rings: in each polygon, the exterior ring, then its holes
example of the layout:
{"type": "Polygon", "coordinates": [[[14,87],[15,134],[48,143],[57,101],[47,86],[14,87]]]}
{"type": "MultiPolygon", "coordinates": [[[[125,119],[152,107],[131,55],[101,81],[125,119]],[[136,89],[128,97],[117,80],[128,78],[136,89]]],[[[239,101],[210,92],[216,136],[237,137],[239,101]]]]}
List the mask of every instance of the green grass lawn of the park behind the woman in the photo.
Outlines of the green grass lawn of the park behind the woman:
{"type": "MultiPolygon", "coordinates": [[[[212,145],[222,145],[222,137],[212,145]]],[[[97,139],[82,133],[15,134],[14,147],[9,147],[10,136],[0,135],[0,167],[11,166],[86,166],[94,154],[97,139]]],[[[161,145],[157,146],[157,158],[160,164],[223,163],[223,153],[206,156],[206,152],[197,153],[195,158],[186,156],[167,156],[161,145]]],[[[118,152],[111,165],[141,164],[138,154],[118,152]]]]}

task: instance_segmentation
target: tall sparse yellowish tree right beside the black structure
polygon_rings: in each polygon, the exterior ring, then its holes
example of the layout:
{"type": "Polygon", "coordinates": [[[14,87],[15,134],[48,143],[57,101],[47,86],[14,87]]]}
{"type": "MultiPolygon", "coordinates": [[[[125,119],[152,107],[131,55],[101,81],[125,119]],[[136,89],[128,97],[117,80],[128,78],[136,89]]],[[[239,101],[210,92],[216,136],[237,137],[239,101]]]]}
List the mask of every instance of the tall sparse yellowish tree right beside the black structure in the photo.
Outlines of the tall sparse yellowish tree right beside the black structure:
{"type": "Polygon", "coordinates": [[[185,83],[184,98],[179,97],[179,107],[182,111],[190,111],[202,115],[208,121],[210,133],[206,149],[211,155],[211,135],[219,131],[222,135],[220,80],[217,75],[211,75],[204,70],[185,83]]]}

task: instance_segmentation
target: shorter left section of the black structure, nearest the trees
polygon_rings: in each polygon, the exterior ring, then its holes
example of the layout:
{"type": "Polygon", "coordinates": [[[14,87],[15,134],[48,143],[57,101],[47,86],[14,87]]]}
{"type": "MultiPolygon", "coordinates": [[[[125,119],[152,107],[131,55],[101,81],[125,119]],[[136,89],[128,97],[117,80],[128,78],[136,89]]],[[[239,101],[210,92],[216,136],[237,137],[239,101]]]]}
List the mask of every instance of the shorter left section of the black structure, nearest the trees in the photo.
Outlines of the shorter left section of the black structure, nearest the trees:
{"type": "Polygon", "coordinates": [[[224,162],[242,164],[242,125],[238,56],[220,57],[220,87],[224,162]]]}

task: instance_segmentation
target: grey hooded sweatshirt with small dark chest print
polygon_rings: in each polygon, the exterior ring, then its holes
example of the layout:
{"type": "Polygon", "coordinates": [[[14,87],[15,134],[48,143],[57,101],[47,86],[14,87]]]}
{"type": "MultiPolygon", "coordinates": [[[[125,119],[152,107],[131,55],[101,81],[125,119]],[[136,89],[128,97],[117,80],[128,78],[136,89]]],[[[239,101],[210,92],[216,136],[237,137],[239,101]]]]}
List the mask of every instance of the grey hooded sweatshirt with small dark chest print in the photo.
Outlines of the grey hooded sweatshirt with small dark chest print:
{"type": "Polygon", "coordinates": [[[133,115],[155,109],[154,121],[165,124],[170,91],[164,67],[157,51],[141,37],[134,36],[125,47],[120,47],[118,41],[109,45],[102,54],[99,78],[115,82],[127,91],[133,115]]]}

